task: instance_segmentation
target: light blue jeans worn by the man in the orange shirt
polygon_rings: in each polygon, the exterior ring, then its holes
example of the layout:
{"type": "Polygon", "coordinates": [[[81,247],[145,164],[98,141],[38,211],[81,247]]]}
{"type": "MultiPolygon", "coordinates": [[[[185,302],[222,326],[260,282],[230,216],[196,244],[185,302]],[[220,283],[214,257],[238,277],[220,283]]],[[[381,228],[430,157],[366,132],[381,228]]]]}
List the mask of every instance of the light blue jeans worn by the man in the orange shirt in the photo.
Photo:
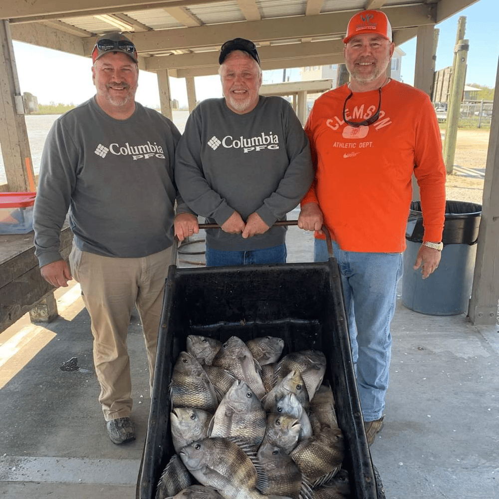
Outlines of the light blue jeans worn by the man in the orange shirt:
{"type": "MultiPolygon", "coordinates": [[[[360,253],[340,250],[338,261],[352,357],[364,421],[383,415],[388,388],[397,283],[402,277],[402,253],[360,253]]],[[[326,242],[315,239],[314,261],[327,261],[326,242]]]]}

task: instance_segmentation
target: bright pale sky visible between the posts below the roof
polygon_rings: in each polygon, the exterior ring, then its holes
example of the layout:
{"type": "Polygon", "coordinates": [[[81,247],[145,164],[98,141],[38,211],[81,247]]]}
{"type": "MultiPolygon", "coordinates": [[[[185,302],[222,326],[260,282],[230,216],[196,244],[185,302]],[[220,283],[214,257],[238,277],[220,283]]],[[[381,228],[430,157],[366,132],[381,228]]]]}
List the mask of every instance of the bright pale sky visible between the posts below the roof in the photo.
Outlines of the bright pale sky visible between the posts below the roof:
{"type": "MultiPolygon", "coordinates": [[[[498,0],[479,0],[452,17],[437,24],[439,40],[435,69],[452,66],[458,19],[466,16],[465,38],[470,41],[466,83],[494,87],[499,57],[498,0]]],[[[95,94],[91,77],[91,59],[57,50],[13,41],[14,57],[22,92],[35,95],[40,104],[79,104],[95,94]]],[[[400,45],[406,53],[402,58],[401,77],[414,84],[416,38],[400,45]]],[[[286,71],[290,81],[298,81],[297,68],[286,71]]],[[[282,81],[282,69],[263,72],[263,83],[282,81]]],[[[196,98],[221,97],[218,76],[195,78],[196,98]]],[[[170,78],[172,99],[187,106],[187,91],[183,78],[170,78]]],[[[158,82],[155,73],[140,71],[136,100],[149,107],[159,107],[158,82]]]]}

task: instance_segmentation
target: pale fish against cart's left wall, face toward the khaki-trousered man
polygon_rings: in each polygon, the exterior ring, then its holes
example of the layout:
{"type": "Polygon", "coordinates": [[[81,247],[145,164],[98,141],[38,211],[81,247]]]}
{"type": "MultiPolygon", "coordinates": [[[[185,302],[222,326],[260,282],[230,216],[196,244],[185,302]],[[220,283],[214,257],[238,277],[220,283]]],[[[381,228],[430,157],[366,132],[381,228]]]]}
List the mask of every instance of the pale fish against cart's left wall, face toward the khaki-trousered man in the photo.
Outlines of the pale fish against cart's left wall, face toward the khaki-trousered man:
{"type": "Polygon", "coordinates": [[[213,413],[193,407],[174,407],[170,413],[172,442],[175,452],[196,440],[208,436],[208,425],[213,413]]]}

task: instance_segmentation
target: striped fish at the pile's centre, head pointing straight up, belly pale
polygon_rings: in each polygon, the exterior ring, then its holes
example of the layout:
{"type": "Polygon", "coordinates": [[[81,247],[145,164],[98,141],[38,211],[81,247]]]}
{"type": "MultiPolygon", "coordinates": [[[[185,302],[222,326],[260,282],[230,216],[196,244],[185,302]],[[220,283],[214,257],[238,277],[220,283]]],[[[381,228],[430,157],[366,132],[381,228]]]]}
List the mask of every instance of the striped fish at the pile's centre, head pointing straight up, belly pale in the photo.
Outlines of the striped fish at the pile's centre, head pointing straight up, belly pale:
{"type": "Polygon", "coordinates": [[[246,381],[236,380],[220,402],[208,428],[209,437],[234,437],[255,450],[265,434],[266,416],[261,402],[246,381]]]}

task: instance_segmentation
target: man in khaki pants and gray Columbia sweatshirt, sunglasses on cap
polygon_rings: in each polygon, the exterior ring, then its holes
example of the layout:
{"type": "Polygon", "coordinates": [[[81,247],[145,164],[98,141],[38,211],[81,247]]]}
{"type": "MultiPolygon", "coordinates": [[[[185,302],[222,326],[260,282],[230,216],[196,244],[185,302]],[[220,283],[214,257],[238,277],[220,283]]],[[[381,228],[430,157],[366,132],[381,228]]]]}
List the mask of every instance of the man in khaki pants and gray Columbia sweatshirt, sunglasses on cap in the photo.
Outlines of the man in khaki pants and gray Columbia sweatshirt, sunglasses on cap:
{"type": "Polygon", "coordinates": [[[180,133],[135,102],[139,70],[133,43],[120,33],[99,37],[92,52],[97,93],[58,118],[41,159],[33,214],[41,274],[67,286],[71,271],[59,253],[68,208],[74,234],[70,265],[81,285],[94,337],[99,402],[112,442],[135,439],[126,336],[134,305],[154,375],[164,283],[173,241],[197,219],[173,178],[180,133]]]}

